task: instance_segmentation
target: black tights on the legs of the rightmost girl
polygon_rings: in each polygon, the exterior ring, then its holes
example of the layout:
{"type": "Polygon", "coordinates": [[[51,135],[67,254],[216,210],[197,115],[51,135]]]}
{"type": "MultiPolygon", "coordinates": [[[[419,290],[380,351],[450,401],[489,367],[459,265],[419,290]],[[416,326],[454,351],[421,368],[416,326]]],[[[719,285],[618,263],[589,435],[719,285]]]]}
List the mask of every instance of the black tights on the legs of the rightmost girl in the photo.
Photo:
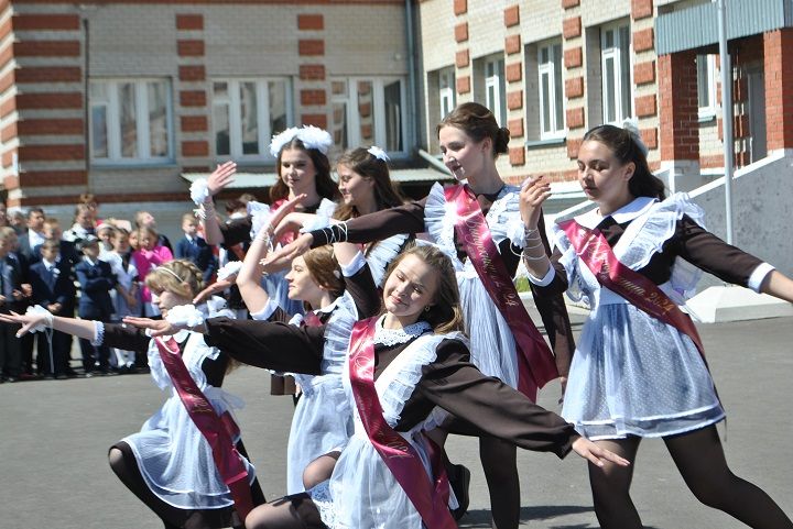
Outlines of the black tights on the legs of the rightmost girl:
{"type": "MultiPolygon", "coordinates": [[[[589,464],[595,513],[600,526],[619,529],[641,528],[639,513],[630,497],[633,463],[640,439],[597,441],[601,447],[623,456],[631,466],[606,463],[589,464]]],[[[666,449],[694,496],[715,509],[761,529],[793,529],[793,522],[758,486],[732,474],[715,426],[681,436],[664,438],[666,449]]]]}

